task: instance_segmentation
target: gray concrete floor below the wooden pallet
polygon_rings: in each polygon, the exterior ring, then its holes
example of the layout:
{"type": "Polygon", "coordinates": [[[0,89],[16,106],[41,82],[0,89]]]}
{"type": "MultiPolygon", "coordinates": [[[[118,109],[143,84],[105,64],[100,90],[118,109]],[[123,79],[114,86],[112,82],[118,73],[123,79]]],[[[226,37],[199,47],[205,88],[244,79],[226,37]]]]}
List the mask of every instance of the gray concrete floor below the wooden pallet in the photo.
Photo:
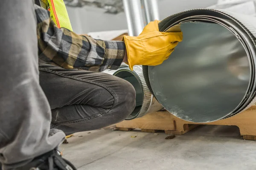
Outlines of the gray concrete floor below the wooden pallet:
{"type": "Polygon", "coordinates": [[[75,133],[61,149],[79,170],[256,169],[256,142],[241,139],[236,126],[201,125],[166,136],[101,129],[75,133]]]}

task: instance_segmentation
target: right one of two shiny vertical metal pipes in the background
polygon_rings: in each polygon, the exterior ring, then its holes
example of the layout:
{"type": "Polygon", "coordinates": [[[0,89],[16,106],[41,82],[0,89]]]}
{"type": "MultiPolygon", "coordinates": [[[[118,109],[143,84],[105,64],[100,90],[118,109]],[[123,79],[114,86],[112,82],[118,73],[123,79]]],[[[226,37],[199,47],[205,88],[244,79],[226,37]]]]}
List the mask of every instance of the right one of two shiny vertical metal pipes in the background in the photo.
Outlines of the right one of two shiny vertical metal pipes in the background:
{"type": "Polygon", "coordinates": [[[157,0],[142,0],[147,23],[160,20],[157,0]]]}

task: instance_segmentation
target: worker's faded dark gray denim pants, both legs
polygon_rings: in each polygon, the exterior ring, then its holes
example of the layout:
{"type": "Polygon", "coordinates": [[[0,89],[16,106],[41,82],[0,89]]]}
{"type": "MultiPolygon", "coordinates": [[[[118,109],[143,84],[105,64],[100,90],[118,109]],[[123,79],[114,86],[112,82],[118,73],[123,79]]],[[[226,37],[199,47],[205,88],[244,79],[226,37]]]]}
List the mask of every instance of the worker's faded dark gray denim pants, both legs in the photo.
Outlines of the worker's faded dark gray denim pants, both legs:
{"type": "Polygon", "coordinates": [[[32,0],[2,0],[0,9],[3,169],[22,166],[54,149],[65,133],[104,127],[131,113],[135,91],[122,79],[45,64],[39,76],[32,0]]]}

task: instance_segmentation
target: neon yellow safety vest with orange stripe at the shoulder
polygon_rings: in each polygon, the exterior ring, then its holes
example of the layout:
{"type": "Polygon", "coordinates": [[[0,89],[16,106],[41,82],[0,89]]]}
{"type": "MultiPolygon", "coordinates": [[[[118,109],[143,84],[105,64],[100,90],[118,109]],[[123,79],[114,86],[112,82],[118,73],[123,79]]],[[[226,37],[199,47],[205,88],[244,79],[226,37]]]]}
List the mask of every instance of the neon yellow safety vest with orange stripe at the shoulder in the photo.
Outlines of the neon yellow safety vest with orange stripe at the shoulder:
{"type": "Polygon", "coordinates": [[[41,6],[50,11],[52,20],[58,28],[64,27],[73,31],[63,0],[41,0],[41,6]]]}

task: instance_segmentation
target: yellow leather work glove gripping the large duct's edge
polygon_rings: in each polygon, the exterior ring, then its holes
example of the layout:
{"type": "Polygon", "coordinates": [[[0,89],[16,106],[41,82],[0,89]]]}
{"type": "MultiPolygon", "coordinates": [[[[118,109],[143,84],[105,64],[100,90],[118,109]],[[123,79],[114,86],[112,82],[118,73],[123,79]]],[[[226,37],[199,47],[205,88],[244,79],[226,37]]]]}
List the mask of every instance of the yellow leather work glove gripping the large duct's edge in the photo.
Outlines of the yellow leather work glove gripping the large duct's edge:
{"type": "Polygon", "coordinates": [[[150,22],[138,37],[124,36],[128,65],[160,65],[182,41],[182,32],[160,32],[158,23],[150,22]]]}

